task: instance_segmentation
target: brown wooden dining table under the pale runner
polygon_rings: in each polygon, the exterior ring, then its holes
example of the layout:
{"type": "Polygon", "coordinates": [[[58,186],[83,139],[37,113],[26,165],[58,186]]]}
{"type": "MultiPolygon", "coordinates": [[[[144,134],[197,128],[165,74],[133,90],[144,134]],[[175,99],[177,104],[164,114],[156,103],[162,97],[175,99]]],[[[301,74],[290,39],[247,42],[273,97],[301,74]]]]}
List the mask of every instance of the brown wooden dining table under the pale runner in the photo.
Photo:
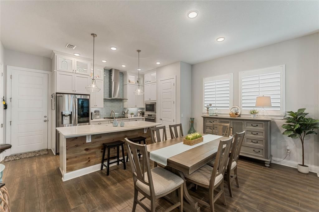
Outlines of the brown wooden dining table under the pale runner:
{"type": "MultiPolygon", "coordinates": [[[[204,135],[205,134],[203,134],[203,136],[204,135]]],[[[149,144],[147,145],[147,152],[150,154],[152,151],[183,142],[183,138],[185,137],[186,136],[149,144]]],[[[225,140],[227,138],[228,137],[221,137],[214,139],[167,159],[167,166],[165,168],[174,173],[178,173],[184,180],[183,192],[186,200],[184,201],[183,206],[184,211],[200,211],[200,208],[197,201],[195,201],[188,193],[183,173],[193,173],[207,162],[214,159],[217,154],[217,148],[220,140],[225,140]]],[[[178,197],[174,194],[167,195],[165,198],[173,203],[178,201],[178,197]]]]}

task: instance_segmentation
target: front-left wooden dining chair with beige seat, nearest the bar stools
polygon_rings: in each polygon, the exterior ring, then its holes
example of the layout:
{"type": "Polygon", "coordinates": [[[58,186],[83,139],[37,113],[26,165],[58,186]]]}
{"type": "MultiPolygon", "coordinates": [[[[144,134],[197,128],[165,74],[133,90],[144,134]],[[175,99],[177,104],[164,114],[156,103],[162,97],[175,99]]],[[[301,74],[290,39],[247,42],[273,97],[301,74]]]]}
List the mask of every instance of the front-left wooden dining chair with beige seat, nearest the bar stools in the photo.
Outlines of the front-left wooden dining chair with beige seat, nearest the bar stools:
{"type": "Polygon", "coordinates": [[[129,154],[134,181],[134,200],[132,211],[135,211],[136,205],[139,204],[144,210],[155,212],[156,199],[178,190],[178,202],[167,208],[167,211],[171,211],[179,207],[179,211],[182,212],[184,180],[162,167],[155,167],[151,169],[146,145],[133,143],[127,138],[125,138],[125,144],[128,152],[132,152],[132,154],[129,154]],[[138,150],[143,155],[141,161],[138,159],[138,150]],[[140,192],[144,197],[138,199],[138,192],[140,192]],[[151,209],[147,208],[147,206],[141,202],[145,198],[151,201],[151,209]]]}

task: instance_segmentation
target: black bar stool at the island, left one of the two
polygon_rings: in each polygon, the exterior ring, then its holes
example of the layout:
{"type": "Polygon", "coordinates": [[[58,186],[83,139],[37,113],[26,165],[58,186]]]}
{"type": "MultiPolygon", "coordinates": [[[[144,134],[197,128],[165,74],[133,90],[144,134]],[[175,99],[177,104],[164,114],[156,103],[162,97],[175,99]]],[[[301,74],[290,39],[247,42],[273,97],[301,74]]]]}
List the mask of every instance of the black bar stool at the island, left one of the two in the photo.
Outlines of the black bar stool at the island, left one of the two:
{"type": "Polygon", "coordinates": [[[107,168],[106,175],[108,176],[109,172],[110,172],[110,164],[117,163],[117,165],[119,165],[120,162],[123,163],[124,169],[126,169],[125,156],[124,156],[124,142],[123,141],[114,141],[114,142],[109,142],[109,143],[103,143],[103,155],[102,155],[102,160],[101,160],[101,170],[103,169],[103,166],[105,166],[107,168]],[[120,146],[122,147],[122,159],[120,159],[120,157],[119,157],[119,153],[120,153],[119,147],[120,146]],[[117,156],[110,157],[110,149],[113,147],[117,147],[117,156]],[[106,148],[108,148],[108,158],[104,159],[106,148]],[[110,159],[114,159],[114,158],[116,158],[117,160],[110,163],[110,159]],[[104,164],[105,160],[108,161],[108,165],[104,164]]]}

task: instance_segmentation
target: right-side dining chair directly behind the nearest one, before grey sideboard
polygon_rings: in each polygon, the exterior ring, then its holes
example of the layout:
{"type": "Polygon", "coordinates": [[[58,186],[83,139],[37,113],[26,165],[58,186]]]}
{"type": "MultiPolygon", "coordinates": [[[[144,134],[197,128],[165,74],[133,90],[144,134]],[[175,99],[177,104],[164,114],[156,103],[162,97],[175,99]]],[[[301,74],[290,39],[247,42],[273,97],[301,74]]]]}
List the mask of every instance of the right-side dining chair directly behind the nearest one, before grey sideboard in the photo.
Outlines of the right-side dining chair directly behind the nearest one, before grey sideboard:
{"type": "MultiPolygon", "coordinates": [[[[237,174],[237,164],[238,164],[238,158],[241,151],[241,145],[245,138],[245,130],[238,133],[236,132],[234,142],[232,144],[231,153],[229,156],[228,164],[226,167],[226,180],[227,180],[227,187],[229,191],[229,195],[233,197],[232,194],[232,187],[231,183],[236,180],[236,185],[239,187],[238,182],[238,174],[237,174]],[[234,175],[232,176],[231,173],[234,171],[234,175]]],[[[214,166],[215,160],[212,160],[207,163],[210,166],[214,166]]]]}

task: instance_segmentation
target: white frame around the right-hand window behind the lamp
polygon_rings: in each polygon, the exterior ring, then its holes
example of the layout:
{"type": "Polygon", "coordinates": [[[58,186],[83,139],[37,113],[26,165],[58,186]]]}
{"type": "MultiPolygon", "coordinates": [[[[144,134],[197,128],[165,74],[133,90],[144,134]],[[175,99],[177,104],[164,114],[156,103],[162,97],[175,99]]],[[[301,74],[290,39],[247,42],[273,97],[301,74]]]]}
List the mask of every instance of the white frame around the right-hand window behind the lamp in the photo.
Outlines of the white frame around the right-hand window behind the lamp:
{"type": "Polygon", "coordinates": [[[243,73],[247,72],[253,72],[253,71],[261,71],[267,68],[274,68],[274,67],[282,67],[282,83],[280,84],[280,94],[282,96],[282,101],[280,101],[280,114],[272,114],[269,113],[269,116],[272,116],[273,118],[283,118],[286,113],[286,66],[285,65],[279,65],[279,66],[271,66],[271,67],[264,67],[264,68],[259,68],[259,69],[254,69],[254,70],[248,70],[248,71],[242,71],[239,72],[239,107],[241,108],[241,114],[242,115],[249,115],[247,110],[242,109],[242,92],[241,92],[241,78],[243,73]],[[282,93],[281,93],[282,92],[282,93]]]}

